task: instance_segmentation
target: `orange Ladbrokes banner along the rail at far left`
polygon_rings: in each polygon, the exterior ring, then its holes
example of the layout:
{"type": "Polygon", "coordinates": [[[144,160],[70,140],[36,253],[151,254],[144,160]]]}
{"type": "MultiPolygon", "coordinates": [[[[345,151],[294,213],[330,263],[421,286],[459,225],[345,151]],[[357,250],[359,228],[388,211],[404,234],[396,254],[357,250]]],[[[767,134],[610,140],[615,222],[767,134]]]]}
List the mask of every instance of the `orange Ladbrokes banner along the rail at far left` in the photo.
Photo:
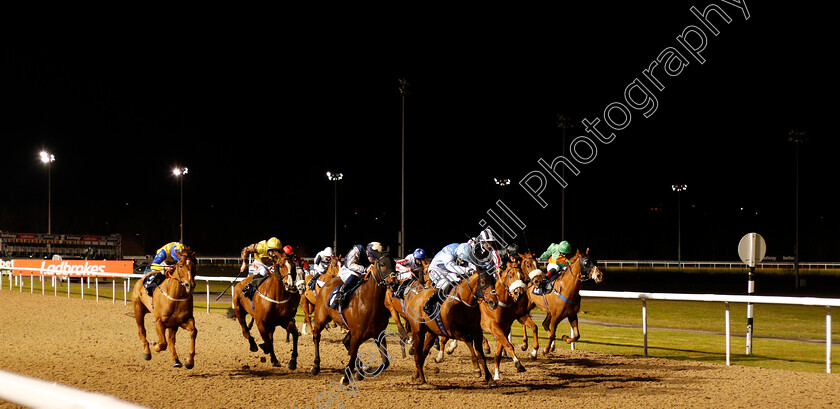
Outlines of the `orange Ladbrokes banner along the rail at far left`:
{"type": "Polygon", "coordinates": [[[97,277],[106,274],[132,274],[134,262],[130,260],[12,260],[12,274],[41,274],[45,276],[97,277]],[[34,270],[33,270],[34,269],[34,270]]]}

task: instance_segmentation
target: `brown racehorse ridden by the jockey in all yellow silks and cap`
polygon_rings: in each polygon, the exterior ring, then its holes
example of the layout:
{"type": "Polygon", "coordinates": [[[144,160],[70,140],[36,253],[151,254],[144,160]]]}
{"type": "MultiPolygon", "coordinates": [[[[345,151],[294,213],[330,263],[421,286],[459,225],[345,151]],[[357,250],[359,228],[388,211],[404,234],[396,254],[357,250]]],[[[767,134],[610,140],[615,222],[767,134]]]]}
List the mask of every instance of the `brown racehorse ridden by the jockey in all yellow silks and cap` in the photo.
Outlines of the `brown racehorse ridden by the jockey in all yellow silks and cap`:
{"type": "Polygon", "coordinates": [[[300,304],[300,293],[295,287],[294,263],[290,257],[281,254],[275,259],[270,271],[271,275],[254,292],[253,301],[242,293],[242,289],[255,276],[250,276],[233,287],[233,311],[239,326],[242,327],[242,336],[248,340],[251,352],[257,351],[257,343],[251,336],[251,326],[257,324],[257,330],[263,340],[259,347],[263,353],[270,356],[273,366],[280,366],[277,356],[274,355],[274,330],[277,327],[285,328],[292,335],[292,358],[288,367],[295,370],[299,335],[295,326],[295,313],[300,304]],[[246,314],[253,317],[251,325],[245,325],[246,314]]]}

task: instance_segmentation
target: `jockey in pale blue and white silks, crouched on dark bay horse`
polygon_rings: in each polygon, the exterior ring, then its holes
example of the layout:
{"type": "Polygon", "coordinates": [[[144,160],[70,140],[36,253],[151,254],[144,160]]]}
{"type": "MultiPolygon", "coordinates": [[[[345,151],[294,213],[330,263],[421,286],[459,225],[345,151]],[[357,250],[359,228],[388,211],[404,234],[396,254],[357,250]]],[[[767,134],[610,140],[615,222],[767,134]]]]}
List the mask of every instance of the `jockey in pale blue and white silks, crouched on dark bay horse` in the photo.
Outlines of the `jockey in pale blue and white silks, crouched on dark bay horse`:
{"type": "Polygon", "coordinates": [[[449,295],[452,288],[478,270],[479,267],[470,261],[473,259],[472,252],[473,247],[469,243],[452,243],[432,258],[429,264],[429,280],[438,291],[435,291],[423,307],[426,315],[431,317],[435,306],[443,302],[443,298],[449,295]]]}

